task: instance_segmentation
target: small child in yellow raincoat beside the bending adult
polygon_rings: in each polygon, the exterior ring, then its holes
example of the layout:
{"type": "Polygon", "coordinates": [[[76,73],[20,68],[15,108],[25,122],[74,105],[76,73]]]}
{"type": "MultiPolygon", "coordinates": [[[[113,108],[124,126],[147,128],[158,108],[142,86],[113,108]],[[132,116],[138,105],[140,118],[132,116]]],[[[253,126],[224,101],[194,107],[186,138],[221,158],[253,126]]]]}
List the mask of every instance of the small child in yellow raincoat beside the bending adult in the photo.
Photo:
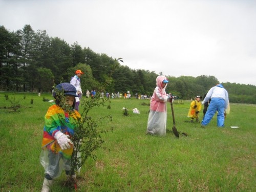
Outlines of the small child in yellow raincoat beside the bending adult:
{"type": "Polygon", "coordinates": [[[202,96],[196,96],[194,101],[190,103],[190,108],[187,114],[187,117],[190,117],[190,123],[193,123],[194,119],[196,118],[196,122],[199,123],[199,113],[202,108],[202,104],[200,100],[202,99],[202,96]]]}

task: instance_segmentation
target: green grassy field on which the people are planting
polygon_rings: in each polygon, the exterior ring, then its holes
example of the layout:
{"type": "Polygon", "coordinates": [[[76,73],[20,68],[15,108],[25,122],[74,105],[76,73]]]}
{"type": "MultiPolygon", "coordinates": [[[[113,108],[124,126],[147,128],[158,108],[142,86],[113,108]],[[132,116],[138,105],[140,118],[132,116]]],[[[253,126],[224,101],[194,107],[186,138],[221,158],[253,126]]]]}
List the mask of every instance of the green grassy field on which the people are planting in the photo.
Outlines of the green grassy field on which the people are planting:
{"type": "MultiPolygon", "coordinates": [[[[1,191],[41,189],[44,169],[39,154],[44,115],[50,105],[43,97],[52,99],[50,94],[0,93],[1,191]],[[21,108],[10,108],[17,104],[21,108]]],[[[166,136],[145,135],[149,103],[111,99],[111,109],[101,106],[90,112],[96,121],[113,116],[112,122],[97,121],[99,129],[113,127],[113,132],[102,135],[110,151],[97,150],[96,161],[87,160],[78,175],[77,191],[256,191],[255,105],[231,103],[224,128],[217,127],[214,116],[202,129],[199,123],[187,122],[190,101],[175,101],[177,130],[189,134],[177,139],[170,132],[169,104],[166,136]],[[123,116],[123,107],[129,116],[123,116]],[[133,114],[134,108],[140,114],[133,114]]],[[[71,191],[62,186],[65,179],[63,172],[52,191],[71,191]]]]}

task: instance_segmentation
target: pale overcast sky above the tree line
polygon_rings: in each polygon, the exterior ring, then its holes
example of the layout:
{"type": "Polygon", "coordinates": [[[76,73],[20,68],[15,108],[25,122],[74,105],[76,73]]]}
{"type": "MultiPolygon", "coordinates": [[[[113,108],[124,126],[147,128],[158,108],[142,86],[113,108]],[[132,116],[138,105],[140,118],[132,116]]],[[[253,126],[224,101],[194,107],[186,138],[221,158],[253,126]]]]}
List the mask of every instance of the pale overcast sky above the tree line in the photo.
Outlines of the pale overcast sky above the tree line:
{"type": "Polygon", "coordinates": [[[26,24],[131,69],[256,86],[255,0],[0,0],[0,25],[26,24]]]}

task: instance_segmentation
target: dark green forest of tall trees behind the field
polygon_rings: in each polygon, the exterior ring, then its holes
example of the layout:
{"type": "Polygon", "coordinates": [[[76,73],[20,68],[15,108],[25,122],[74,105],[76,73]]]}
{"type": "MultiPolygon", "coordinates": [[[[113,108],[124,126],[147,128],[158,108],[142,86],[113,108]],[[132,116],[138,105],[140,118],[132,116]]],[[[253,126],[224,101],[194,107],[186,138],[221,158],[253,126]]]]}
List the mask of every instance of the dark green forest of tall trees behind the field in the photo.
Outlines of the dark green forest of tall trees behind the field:
{"type": "MultiPolygon", "coordinates": [[[[121,57],[121,55],[120,55],[121,57]]],[[[136,93],[151,96],[156,87],[156,77],[162,72],[133,70],[123,65],[121,59],[96,53],[90,47],[82,48],[78,42],[69,45],[64,39],[49,37],[46,30],[34,31],[30,25],[10,32],[0,26],[0,91],[51,92],[60,82],[70,82],[80,69],[83,93],[86,90],[109,93],[136,93]],[[105,90],[100,84],[110,82],[105,90]]],[[[256,104],[256,86],[250,84],[219,82],[214,76],[166,76],[167,93],[179,99],[203,96],[218,83],[228,91],[229,101],[256,104]]]]}

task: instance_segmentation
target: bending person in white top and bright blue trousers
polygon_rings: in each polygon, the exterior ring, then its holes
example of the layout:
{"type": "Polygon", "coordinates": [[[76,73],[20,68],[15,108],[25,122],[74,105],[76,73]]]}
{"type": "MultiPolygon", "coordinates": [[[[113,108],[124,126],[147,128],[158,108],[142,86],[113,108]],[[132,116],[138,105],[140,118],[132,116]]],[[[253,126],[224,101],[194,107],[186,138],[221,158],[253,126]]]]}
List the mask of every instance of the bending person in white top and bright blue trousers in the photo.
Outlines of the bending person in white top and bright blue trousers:
{"type": "Polygon", "coordinates": [[[211,99],[211,101],[206,111],[206,114],[201,122],[202,127],[205,127],[210,122],[216,111],[218,112],[217,126],[224,127],[224,113],[225,110],[228,108],[229,103],[227,90],[224,89],[222,84],[217,84],[215,87],[212,87],[208,91],[202,104],[207,102],[209,99],[211,99]]]}

